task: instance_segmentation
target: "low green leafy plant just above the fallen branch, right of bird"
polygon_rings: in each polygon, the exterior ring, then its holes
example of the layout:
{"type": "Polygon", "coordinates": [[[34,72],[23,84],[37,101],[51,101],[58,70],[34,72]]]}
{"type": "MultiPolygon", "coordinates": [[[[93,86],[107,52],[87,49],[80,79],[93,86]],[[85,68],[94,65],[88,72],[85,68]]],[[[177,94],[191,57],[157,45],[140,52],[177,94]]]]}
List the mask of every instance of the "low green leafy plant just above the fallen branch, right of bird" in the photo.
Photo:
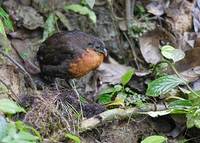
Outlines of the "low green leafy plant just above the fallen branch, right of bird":
{"type": "Polygon", "coordinates": [[[142,106],[146,97],[132,91],[128,86],[128,82],[134,75],[134,69],[127,71],[122,77],[119,84],[107,88],[99,93],[98,102],[105,104],[107,107],[115,106],[142,106]]]}

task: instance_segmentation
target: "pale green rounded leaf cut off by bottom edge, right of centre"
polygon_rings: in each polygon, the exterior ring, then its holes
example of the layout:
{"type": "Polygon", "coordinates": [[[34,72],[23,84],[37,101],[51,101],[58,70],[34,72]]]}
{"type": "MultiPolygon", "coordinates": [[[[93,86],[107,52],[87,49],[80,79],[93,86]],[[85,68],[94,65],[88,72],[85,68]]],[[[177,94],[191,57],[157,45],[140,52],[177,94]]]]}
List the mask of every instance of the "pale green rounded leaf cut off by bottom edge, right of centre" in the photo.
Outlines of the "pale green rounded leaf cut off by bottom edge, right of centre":
{"type": "Polygon", "coordinates": [[[145,138],[141,143],[165,143],[167,142],[167,138],[163,136],[149,136],[145,138]]]}

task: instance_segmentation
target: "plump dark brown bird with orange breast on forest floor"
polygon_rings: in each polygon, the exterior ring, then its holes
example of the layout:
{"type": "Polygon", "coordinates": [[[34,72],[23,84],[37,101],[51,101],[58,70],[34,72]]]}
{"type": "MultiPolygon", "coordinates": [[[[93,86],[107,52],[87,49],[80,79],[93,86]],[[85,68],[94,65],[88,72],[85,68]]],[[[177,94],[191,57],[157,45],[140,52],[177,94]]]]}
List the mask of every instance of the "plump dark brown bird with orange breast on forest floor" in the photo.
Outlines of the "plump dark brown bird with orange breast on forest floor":
{"type": "Polygon", "coordinates": [[[39,47],[37,58],[43,76],[81,78],[107,57],[104,42],[80,30],[53,34],[39,47]]]}

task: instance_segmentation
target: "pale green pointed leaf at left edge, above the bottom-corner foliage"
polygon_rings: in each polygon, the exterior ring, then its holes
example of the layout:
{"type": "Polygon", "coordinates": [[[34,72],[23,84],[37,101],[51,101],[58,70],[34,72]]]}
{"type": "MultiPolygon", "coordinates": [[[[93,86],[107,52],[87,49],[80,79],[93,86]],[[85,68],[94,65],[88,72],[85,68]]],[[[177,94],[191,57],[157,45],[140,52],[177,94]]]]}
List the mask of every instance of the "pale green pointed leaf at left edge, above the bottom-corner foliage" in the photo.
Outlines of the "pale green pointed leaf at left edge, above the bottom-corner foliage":
{"type": "Polygon", "coordinates": [[[0,99],[0,111],[8,114],[25,112],[22,107],[18,106],[15,102],[9,99],[0,99]]]}

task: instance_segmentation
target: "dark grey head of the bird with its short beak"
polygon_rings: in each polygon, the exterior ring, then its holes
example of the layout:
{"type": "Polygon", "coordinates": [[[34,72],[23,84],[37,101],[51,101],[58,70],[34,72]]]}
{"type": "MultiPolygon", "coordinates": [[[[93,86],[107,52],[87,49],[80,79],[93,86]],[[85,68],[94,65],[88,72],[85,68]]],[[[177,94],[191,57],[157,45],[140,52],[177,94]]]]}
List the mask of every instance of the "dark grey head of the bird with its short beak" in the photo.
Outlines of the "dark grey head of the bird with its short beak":
{"type": "Polygon", "coordinates": [[[95,38],[92,42],[89,42],[88,45],[90,48],[94,49],[96,52],[101,53],[105,57],[107,57],[108,52],[102,40],[95,38]]]}

